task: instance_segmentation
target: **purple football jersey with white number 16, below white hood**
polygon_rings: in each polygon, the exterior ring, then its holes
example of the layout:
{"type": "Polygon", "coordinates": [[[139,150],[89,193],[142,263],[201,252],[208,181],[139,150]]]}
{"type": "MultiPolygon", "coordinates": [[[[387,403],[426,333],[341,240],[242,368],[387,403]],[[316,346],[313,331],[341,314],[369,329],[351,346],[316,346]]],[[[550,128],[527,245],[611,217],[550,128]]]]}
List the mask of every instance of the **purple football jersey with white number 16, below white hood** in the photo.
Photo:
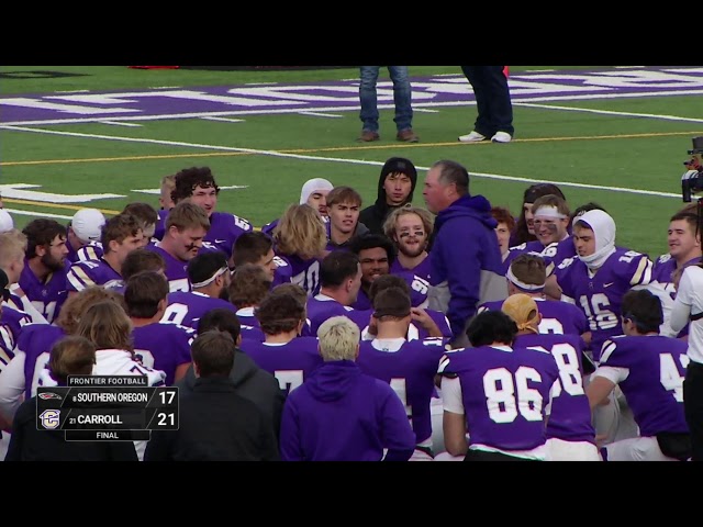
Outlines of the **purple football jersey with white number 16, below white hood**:
{"type": "Polygon", "coordinates": [[[634,285],[648,284],[651,268],[647,256],[616,248],[594,276],[578,258],[563,260],[555,270],[562,294],[573,300],[589,321],[595,360],[602,344],[622,333],[620,306],[623,295],[634,285]]]}

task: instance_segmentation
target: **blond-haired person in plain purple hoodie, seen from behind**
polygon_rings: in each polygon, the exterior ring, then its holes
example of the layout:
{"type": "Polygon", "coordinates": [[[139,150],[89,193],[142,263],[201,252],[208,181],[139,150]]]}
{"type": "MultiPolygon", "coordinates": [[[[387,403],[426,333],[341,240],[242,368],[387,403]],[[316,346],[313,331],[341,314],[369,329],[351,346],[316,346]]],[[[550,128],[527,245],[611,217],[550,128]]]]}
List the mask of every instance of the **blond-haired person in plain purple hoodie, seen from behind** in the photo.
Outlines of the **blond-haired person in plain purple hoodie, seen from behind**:
{"type": "Polygon", "coordinates": [[[405,407],[390,384],[356,363],[359,328],[346,316],[333,316],[317,338],[324,363],[286,400],[281,459],[408,461],[415,435],[405,407]]]}

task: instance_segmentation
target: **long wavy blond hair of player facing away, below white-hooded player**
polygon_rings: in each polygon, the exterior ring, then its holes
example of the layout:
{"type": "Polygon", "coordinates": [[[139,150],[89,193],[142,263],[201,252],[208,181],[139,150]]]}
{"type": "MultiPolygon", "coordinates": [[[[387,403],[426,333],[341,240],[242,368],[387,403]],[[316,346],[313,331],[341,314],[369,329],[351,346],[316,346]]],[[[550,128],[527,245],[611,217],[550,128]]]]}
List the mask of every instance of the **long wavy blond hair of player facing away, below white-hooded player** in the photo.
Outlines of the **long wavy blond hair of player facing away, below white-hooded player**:
{"type": "Polygon", "coordinates": [[[309,260],[327,246],[327,233],[320,213],[308,204],[290,205],[274,229],[277,253],[309,260]]]}

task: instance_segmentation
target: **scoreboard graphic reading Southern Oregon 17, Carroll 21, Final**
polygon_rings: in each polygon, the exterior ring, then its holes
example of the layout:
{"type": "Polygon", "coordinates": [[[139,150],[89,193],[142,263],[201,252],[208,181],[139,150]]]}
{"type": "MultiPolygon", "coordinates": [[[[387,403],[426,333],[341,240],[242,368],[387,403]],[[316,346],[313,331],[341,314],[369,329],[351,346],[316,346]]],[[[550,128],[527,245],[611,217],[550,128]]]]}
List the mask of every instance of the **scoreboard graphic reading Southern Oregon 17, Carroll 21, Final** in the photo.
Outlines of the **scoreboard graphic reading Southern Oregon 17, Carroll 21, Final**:
{"type": "Polygon", "coordinates": [[[178,388],[149,386],[146,375],[70,375],[67,386],[40,386],[37,430],[68,441],[148,440],[178,429],[178,388]]]}

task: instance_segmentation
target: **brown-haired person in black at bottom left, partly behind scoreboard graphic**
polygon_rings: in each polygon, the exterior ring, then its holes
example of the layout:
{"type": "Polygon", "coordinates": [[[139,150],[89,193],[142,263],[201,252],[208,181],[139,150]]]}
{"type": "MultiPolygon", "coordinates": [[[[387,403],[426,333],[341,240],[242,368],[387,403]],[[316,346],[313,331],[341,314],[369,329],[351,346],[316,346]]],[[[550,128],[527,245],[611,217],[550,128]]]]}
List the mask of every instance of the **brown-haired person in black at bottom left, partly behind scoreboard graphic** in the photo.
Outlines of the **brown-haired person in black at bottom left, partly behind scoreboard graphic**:
{"type": "MultiPolygon", "coordinates": [[[[68,375],[90,375],[96,345],[85,337],[58,340],[49,352],[48,370],[59,386],[68,375]]],[[[37,430],[36,396],[14,414],[5,461],[138,461],[132,441],[67,441],[63,430],[37,430]]]]}

